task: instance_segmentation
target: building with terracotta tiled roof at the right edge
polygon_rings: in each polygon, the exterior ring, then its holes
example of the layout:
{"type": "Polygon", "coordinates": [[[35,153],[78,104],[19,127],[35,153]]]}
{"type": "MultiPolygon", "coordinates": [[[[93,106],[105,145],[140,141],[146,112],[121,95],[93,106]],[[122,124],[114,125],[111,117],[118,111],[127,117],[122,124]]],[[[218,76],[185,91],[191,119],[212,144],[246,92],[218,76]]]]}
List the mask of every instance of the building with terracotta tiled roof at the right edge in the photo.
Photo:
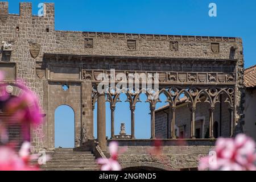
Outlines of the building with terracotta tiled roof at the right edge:
{"type": "Polygon", "coordinates": [[[245,70],[245,133],[256,140],[256,65],[245,70]]]}

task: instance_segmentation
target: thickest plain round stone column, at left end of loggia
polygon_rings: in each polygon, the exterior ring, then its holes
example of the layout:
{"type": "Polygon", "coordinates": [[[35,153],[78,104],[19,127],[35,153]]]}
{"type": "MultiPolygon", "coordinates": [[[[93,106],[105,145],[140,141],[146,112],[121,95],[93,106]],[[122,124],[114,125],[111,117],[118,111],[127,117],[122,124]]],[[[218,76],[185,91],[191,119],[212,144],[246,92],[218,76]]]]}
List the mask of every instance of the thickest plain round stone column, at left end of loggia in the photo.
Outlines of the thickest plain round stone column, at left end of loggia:
{"type": "Polygon", "coordinates": [[[106,100],[105,94],[98,94],[97,139],[102,151],[106,151],[106,100]]]}

